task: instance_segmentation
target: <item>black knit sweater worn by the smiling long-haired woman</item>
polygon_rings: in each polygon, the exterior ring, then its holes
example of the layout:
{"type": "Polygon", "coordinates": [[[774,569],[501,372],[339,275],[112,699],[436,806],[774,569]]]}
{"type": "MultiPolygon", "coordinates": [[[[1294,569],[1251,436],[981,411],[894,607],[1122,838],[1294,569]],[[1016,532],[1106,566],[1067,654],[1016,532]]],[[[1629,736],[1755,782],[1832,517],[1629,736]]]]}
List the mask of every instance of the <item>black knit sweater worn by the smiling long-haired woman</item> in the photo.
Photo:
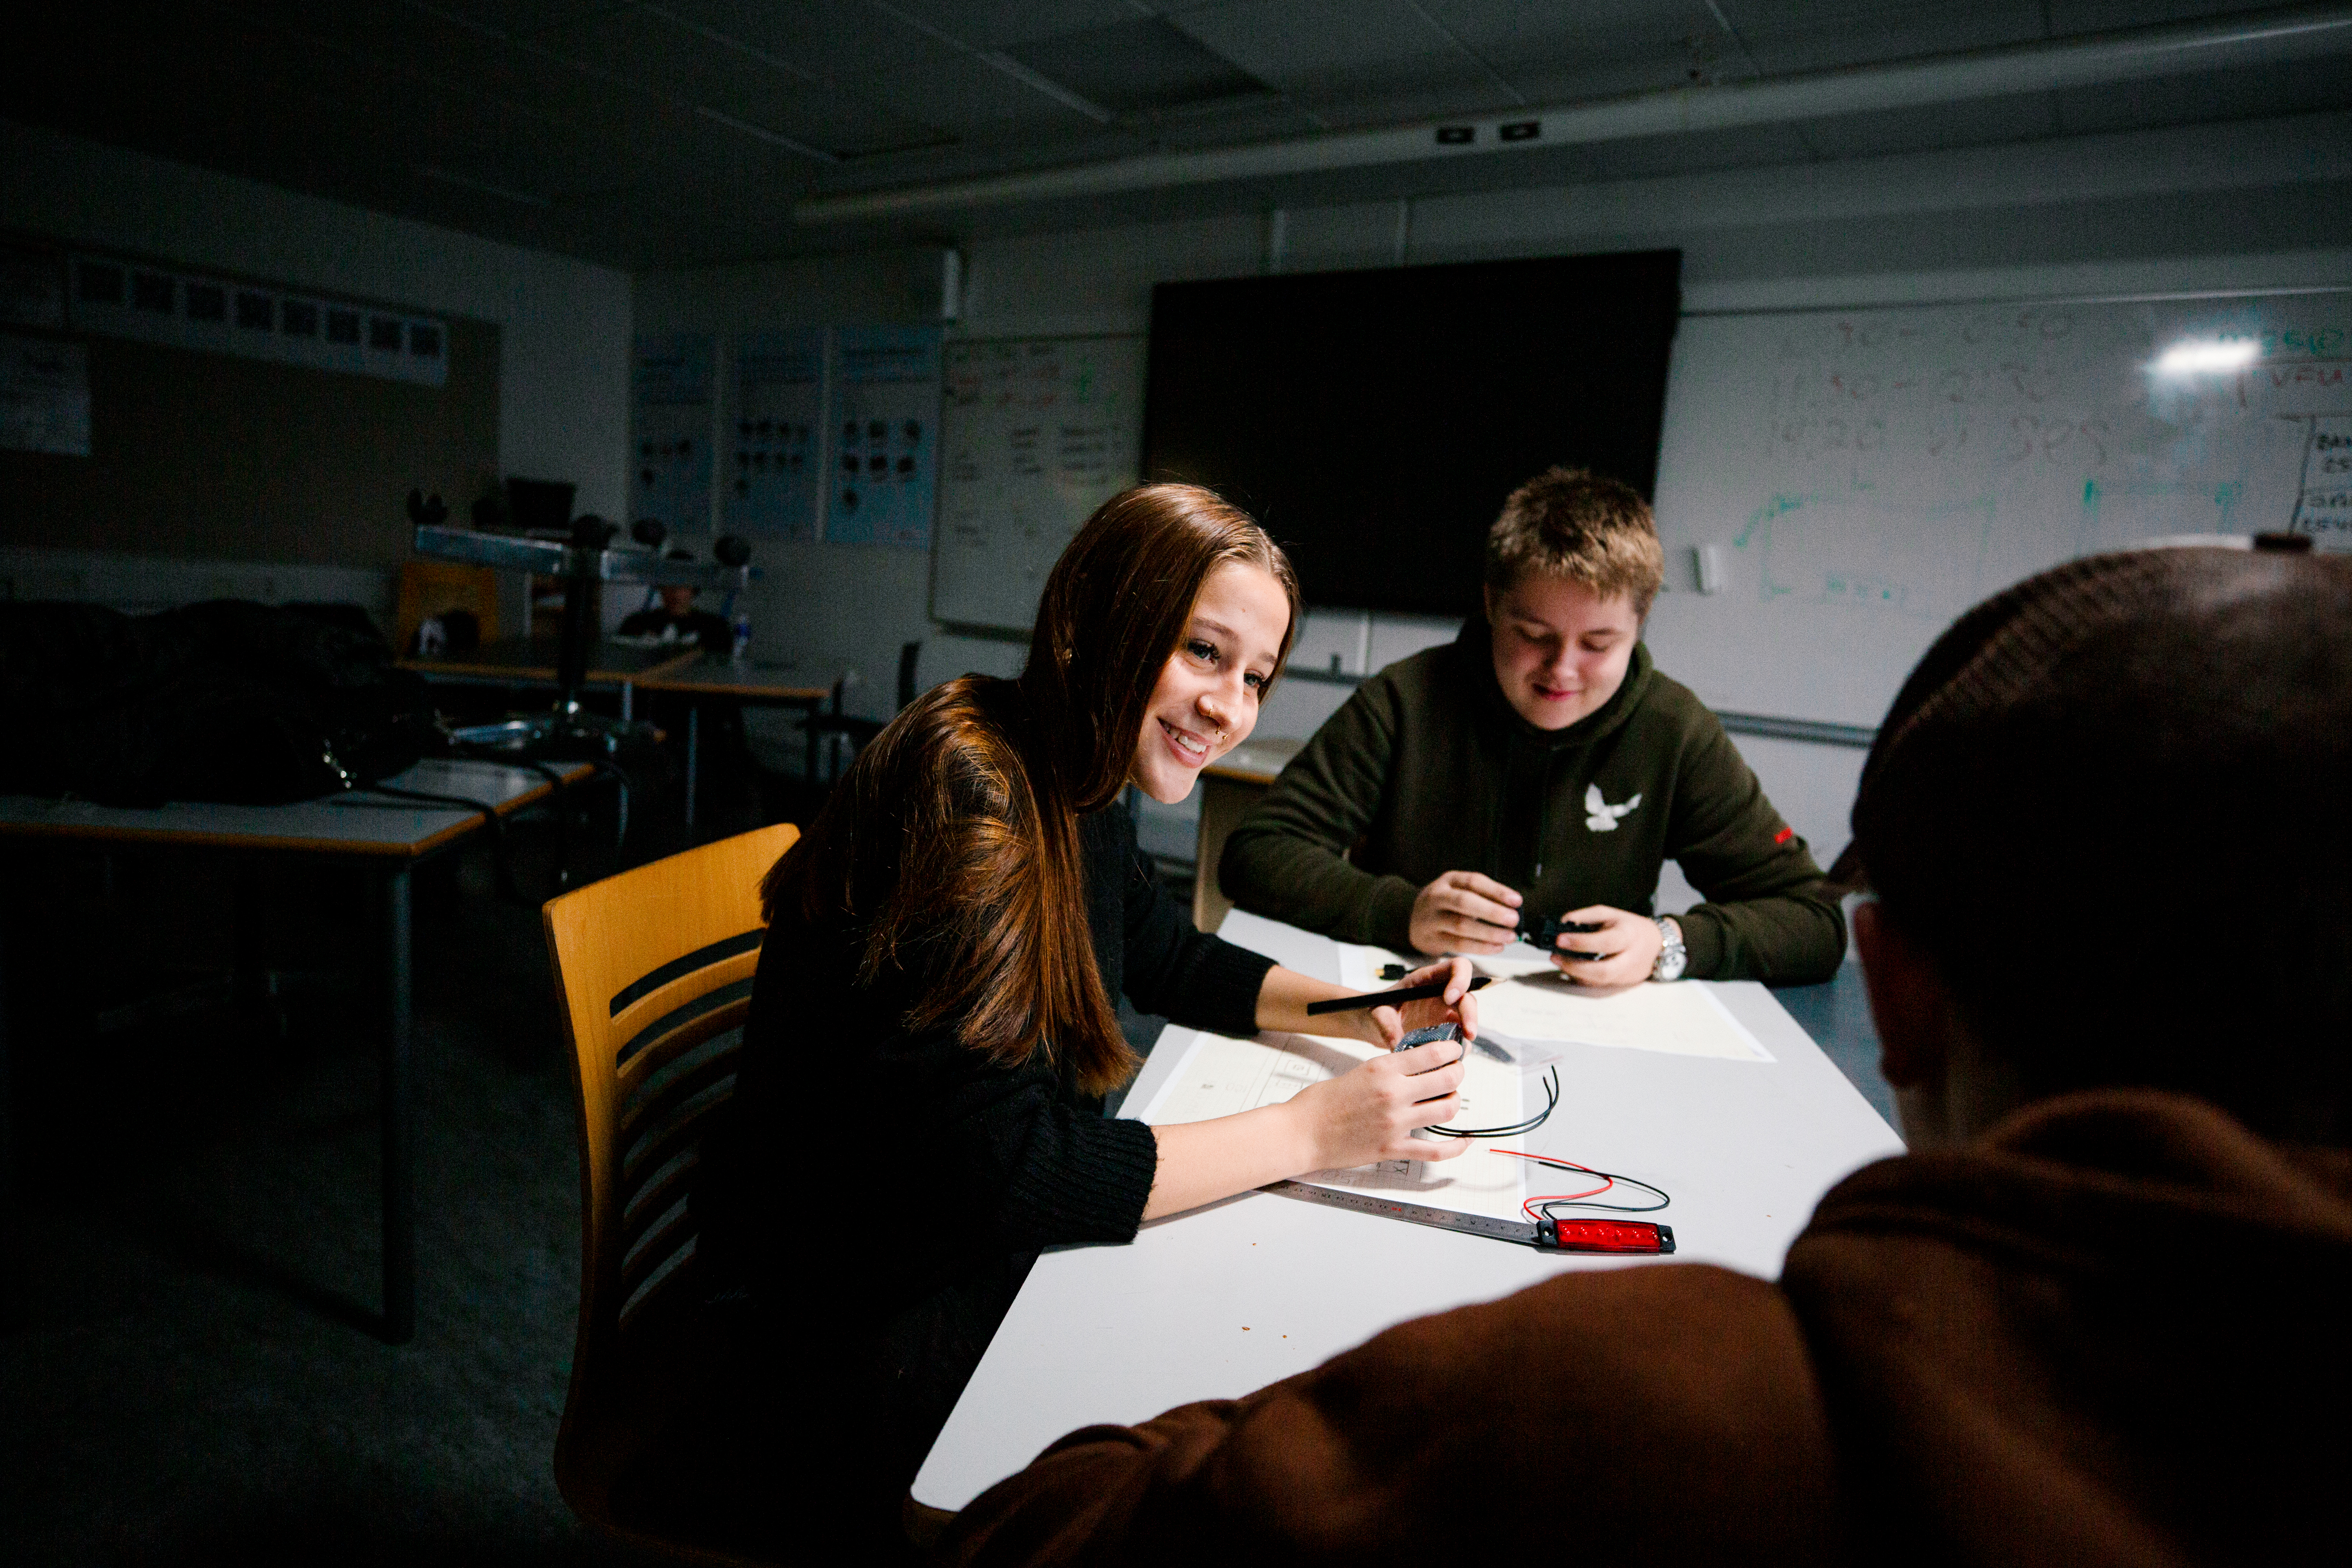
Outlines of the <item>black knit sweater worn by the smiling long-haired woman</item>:
{"type": "MultiPolygon", "coordinates": [[[[1124,806],[1082,818],[1080,844],[1105,992],[1254,1034],[1272,959],[1192,929],[1124,806]]],[[[779,912],[696,1218],[713,1286],[741,1293],[755,1333],[826,1347],[903,1488],[1037,1251],[1134,1239],[1157,1143],[1037,1060],[1004,1070],[953,1025],[906,1030],[906,985],[856,973],[854,931],[779,912]]]]}

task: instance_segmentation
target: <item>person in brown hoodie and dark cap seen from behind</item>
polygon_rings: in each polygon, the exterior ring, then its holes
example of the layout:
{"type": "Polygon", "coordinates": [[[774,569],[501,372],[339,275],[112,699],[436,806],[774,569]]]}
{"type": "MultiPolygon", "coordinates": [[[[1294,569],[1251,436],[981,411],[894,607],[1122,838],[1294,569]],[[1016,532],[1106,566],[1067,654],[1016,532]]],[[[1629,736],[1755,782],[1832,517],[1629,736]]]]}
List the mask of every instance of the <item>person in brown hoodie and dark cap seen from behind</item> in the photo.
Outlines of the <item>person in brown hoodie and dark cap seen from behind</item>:
{"type": "Polygon", "coordinates": [[[955,1563],[2343,1552],[2352,562],[2138,550],[1966,614],[1835,879],[1910,1154],[1778,1281],[1578,1269],[1089,1427],[955,1563]],[[2336,1544],[2331,1544],[2336,1542],[2336,1544]]]}

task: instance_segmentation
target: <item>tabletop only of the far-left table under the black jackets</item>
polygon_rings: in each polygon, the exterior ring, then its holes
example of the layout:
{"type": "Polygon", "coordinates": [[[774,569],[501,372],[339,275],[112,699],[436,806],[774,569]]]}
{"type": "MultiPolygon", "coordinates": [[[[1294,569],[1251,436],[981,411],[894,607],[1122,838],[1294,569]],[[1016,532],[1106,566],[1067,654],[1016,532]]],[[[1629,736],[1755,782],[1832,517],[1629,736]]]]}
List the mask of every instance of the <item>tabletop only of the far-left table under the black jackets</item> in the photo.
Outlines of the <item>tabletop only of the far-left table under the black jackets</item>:
{"type": "MultiPolygon", "coordinates": [[[[555,764],[581,776],[586,764],[555,764]]],[[[383,783],[423,795],[477,799],[501,813],[548,792],[532,769],[499,762],[428,759],[383,783]]],[[[212,844],[228,849],[301,849],[348,856],[419,856],[482,818],[459,806],[428,806],[360,790],[287,806],[226,806],[172,802],[167,806],[99,806],[85,799],[0,795],[0,835],[80,837],[148,844],[212,844]]]]}

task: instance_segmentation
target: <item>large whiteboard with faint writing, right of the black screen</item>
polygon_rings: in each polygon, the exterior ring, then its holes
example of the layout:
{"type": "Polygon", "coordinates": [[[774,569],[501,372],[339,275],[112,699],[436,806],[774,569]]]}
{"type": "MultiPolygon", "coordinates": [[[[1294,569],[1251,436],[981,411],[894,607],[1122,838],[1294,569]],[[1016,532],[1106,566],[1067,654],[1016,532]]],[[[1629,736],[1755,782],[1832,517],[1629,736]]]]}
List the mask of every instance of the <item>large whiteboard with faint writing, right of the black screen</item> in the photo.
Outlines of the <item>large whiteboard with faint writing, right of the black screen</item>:
{"type": "Polygon", "coordinates": [[[2178,534],[2352,548],[2347,329],[2352,292],[1684,317],[1651,649],[1710,708],[1877,724],[1955,616],[2044,567],[2178,534]],[[2157,369],[2180,343],[2258,357],[2157,369]]]}

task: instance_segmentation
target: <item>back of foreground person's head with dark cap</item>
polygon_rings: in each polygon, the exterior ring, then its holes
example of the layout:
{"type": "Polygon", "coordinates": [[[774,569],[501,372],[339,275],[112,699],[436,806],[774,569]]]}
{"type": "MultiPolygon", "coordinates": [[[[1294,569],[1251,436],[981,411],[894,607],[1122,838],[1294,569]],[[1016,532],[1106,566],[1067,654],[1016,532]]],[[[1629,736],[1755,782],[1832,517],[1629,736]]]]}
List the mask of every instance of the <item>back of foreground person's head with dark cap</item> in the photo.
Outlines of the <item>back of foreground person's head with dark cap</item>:
{"type": "Polygon", "coordinates": [[[2352,559],[2129,550],[1971,609],[1879,726],[1832,879],[2027,1088],[2352,1140],[2352,559]]]}

